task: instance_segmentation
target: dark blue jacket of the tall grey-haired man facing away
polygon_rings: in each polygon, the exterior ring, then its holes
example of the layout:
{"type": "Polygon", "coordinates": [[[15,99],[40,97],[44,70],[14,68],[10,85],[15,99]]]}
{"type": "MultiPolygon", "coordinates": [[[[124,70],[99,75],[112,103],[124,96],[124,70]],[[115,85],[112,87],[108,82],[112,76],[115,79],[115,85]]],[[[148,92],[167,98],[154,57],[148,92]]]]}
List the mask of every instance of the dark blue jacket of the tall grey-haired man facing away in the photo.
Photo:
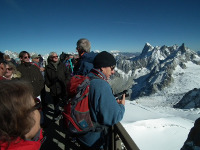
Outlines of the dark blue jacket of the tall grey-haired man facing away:
{"type": "Polygon", "coordinates": [[[93,61],[98,53],[84,53],[74,66],[74,75],[87,75],[94,67],[93,61]]]}

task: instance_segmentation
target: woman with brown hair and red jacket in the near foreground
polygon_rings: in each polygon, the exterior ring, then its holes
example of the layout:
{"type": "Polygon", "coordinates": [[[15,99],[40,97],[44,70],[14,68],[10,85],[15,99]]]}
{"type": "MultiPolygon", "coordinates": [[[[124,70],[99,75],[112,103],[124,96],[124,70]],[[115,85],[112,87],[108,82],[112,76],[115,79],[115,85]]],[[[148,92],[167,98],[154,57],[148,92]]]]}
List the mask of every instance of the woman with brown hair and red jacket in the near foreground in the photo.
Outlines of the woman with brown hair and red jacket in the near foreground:
{"type": "Polygon", "coordinates": [[[32,87],[19,80],[0,84],[0,149],[39,150],[43,140],[40,106],[32,96],[32,87]]]}

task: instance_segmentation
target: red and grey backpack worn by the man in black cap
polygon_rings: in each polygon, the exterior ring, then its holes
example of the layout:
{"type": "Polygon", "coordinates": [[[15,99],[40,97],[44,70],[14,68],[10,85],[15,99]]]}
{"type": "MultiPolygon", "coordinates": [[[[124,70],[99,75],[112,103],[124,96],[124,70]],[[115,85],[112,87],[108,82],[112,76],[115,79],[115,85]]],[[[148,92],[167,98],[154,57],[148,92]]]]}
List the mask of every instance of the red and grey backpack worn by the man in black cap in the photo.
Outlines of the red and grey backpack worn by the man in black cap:
{"type": "Polygon", "coordinates": [[[68,131],[73,134],[87,133],[95,130],[95,123],[90,117],[88,102],[90,78],[75,75],[69,82],[69,101],[64,106],[63,119],[68,131]]]}

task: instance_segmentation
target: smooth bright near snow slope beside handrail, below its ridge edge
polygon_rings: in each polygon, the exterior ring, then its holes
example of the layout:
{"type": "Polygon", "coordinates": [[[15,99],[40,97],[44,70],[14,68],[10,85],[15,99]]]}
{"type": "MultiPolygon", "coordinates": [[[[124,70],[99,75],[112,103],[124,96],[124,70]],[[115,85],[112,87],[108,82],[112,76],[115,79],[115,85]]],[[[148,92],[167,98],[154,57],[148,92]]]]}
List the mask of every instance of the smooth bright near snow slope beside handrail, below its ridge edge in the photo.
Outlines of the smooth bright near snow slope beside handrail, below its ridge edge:
{"type": "Polygon", "coordinates": [[[200,116],[200,110],[152,109],[128,100],[125,108],[121,123],[141,150],[179,150],[200,116]]]}

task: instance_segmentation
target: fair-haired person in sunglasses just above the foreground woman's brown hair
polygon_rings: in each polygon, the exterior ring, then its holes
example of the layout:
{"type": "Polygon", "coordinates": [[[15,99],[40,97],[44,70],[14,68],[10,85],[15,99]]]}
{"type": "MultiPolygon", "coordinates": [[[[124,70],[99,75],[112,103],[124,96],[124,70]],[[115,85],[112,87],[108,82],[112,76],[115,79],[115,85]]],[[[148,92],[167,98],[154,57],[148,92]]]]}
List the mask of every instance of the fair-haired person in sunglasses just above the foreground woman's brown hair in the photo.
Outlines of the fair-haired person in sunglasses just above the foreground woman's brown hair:
{"type": "Polygon", "coordinates": [[[7,62],[6,73],[5,73],[4,77],[7,80],[19,79],[21,77],[21,73],[19,71],[17,71],[16,66],[12,62],[7,62]]]}

